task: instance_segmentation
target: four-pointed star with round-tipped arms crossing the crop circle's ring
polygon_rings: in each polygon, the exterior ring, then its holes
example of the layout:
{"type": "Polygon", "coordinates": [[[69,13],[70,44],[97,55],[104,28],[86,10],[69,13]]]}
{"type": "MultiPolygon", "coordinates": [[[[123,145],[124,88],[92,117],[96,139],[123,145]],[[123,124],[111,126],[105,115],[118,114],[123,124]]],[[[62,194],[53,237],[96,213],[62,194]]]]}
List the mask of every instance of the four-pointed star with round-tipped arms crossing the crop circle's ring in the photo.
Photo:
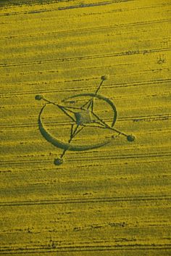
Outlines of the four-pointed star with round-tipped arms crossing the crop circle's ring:
{"type": "MultiPolygon", "coordinates": [[[[107,123],[105,123],[104,120],[102,120],[99,117],[99,115],[96,115],[96,113],[94,112],[94,101],[96,99],[97,93],[99,92],[104,80],[107,80],[106,75],[101,76],[101,83],[100,83],[99,87],[96,89],[95,94],[91,94],[91,95],[93,95],[93,96],[91,96],[91,99],[88,99],[88,101],[86,103],[84,103],[81,107],[62,106],[61,104],[57,104],[55,102],[49,101],[48,99],[44,98],[43,95],[36,95],[35,99],[37,99],[37,100],[43,99],[46,102],[46,104],[54,104],[55,106],[59,107],[59,109],[62,110],[62,112],[64,112],[64,114],[67,115],[67,117],[70,117],[70,119],[72,120],[70,139],[68,140],[68,146],[62,152],[61,157],[54,160],[55,165],[62,164],[62,162],[63,162],[62,157],[64,156],[65,152],[68,149],[70,149],[70,143],[71,143],[72,139],[75,138],[75,136],[78,135],[78,133],[80,133],[80,131],[82,131],[83,128],[86,128],[86,127],[98,127],[98,128],[109,129],[114,132],[117,132],[117,134],[118,134],[117,136],[120,136],[122,134],[123,136],[127,137],[128,141],[135,140],[135,136],[127,135],[126,133],[123,133],[123,132],[115,129],[113,127],[114,121],[113,121],[112,125],[108,125],[107,123]]],[[[87,96],[88,94],[87,95],[82,94],[82,96],[83,95],[87,96]]],[[[79,95],[77,95],[77,96],[79,96],[79,95]]],[[[80,96],[81,96],[81,94],[80,94],[80,96]]],[[[62,100],[62,102],[67,103],[65,99],[62,100]]],[[[46,106],[46,104],[44,105],[44,107],[46,106]]],[[[41,109],[41,112],[43,111],[43,108],[41,109]]],[[[116,114],[116,111],[114,111],[114,115],[115,114],[116,114]]],[[[41,115],[41,113],[39,115],[41,115]]],[[[116,117],[117,117],[117,115],[116,115],[116,117]]],[[[115,117],[115,121],[116,121],[116,117],[115,117]]],[[[111,138],[115,139],[117,136],[112,135],[111,138]]]]}

